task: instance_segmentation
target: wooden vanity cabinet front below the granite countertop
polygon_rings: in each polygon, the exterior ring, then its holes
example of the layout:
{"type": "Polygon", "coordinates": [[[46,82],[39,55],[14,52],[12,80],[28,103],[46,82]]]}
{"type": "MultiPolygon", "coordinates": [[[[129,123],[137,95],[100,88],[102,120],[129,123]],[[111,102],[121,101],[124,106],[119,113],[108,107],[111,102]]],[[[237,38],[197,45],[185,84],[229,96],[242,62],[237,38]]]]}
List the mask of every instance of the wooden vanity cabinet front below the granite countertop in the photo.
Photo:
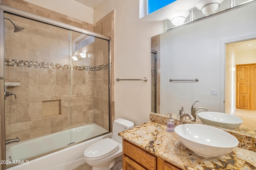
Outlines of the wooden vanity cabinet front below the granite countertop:
{"type": "Polygon", "coordinates": [[[123,139],[123,170],[180,170],[123,139]]]}

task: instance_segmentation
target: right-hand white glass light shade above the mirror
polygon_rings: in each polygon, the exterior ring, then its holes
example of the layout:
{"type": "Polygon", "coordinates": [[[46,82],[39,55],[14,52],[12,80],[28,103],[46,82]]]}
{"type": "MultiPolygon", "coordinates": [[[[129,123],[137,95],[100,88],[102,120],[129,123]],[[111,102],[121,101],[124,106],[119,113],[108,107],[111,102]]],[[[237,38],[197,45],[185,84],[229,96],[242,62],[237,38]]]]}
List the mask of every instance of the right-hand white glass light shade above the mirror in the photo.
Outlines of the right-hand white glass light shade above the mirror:
{"type": "Polygon", "coordinates": [[[196,8],[204,15],[210,15],[218,10],[223,0],[200,0],[196,4],[196,8]]]}

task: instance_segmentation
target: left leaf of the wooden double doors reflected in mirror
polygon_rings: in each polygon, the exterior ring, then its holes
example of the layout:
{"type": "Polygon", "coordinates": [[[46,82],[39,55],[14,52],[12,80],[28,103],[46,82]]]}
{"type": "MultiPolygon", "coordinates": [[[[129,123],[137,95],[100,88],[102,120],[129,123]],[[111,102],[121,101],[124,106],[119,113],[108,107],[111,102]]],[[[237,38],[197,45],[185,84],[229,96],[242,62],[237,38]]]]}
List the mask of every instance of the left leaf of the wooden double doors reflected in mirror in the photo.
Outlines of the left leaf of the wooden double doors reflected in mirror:
{"type": "Polygon", "coordinates": [[[236,65],[236,108],[250,109],[250,66],[236,65]]]}

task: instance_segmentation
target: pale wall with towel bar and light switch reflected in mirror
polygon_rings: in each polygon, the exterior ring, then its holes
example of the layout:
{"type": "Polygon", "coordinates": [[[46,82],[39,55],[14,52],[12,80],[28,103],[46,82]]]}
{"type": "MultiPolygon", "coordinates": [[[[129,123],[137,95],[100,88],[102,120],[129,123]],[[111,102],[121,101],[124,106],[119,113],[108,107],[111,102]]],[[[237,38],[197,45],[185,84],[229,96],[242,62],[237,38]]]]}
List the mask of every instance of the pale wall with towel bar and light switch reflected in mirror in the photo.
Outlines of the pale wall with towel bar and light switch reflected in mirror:
{"type": "MultiPolygon", "coordinates": [[[[202,20],[161,35],[161,113],[190,113],[192,104],[220,111],[220,62],[223,41],[256,35],[256,4],[202,20]],[[165,70],[165,71],[164,71],[165,70]],[[195,79],[170,83],[169,79],[195,79]],[[218,96],[210,95],[217,89],[218,96]]],[[[225,57],[225,56],[224,56],[225,57]]]]}

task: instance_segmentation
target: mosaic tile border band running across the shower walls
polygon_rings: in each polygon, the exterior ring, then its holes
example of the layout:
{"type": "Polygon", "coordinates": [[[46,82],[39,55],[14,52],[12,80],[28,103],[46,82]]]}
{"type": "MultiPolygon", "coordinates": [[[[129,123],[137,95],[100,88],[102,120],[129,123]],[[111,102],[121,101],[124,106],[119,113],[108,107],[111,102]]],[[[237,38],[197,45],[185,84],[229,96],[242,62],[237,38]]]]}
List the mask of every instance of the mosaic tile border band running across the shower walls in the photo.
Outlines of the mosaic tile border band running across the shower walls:
{"type": "Polygon", "coordinates": [[[72,69],[72,70],[81,70],[81,71],[98,71],[98,70],[109,69],[109,64],[102,64],[98,66],[77,66],[77,65],[27,61],[27,60],[14,60],[14,59],[4,59],[4,65],[14,66],[14,67],[50,68],[50,69],[60,69],[60,70],[72,69]]]}

